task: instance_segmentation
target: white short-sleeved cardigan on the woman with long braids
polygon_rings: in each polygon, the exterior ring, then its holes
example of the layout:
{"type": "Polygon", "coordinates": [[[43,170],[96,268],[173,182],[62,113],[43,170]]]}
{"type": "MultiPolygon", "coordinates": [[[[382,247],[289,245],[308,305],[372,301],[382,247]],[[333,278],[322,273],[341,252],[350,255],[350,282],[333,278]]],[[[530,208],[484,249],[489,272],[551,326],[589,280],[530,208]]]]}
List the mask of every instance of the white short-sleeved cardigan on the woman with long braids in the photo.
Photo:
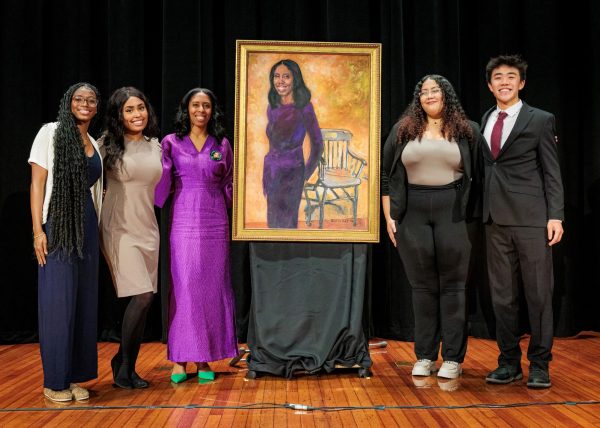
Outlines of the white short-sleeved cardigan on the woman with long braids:
{"type": "MultiPolygon", "coordinates": [[[[57,127],[58,122],[51,122],[42,126],[36,135],[35,140],[33,140],[33,145],[31,146],[31,153],[29,154],[28,160],[30,164],[35,163],[48,171],[48,176],[46,178],[46,191],[44,192],[42,224],[45,224],[48,220],[48,207],[50,206],[50,198],[52,197],[52,183],[54,180],[54,133],[56,132],[57,127]]],[[[98,155],[100,155],[100,150],[96,140],[94,140],[90,134],[88,134],[88,137],[92,142],[94,149],[98,152],[98,155]]],[[[102,162],[102,156],[100,156],[100,162],[102,162]]],[[[103,174],[100,175],[100,178],[91,187],[92,200],[94,201],[94,207],[96,208],[98,222],[100,222],[100,209],[102,208],[102,175],[103,174]]]]}

